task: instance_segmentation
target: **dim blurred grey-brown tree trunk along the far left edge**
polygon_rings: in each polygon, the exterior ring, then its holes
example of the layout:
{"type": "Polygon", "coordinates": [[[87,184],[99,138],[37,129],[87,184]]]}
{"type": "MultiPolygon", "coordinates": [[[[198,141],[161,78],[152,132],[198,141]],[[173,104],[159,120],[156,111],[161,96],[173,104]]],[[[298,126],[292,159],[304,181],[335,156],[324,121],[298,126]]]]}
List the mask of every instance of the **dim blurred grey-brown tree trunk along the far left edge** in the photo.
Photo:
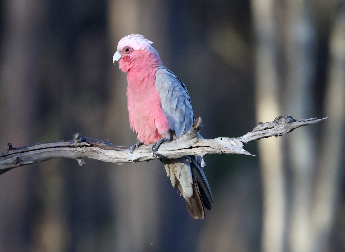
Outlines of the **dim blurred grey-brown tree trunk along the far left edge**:
{"type": "MultiPolygon", "coordinates": [[[[0,149],[9,141],[27,145],[32,140],[40,35],[40,0],[5,1],[0,62],[0,149]]],[[[0,251],[24,251],[28,170],[0,178],[0,251]],[[11,192],[11,193],[8,193],[11,192]]],[[[28,239],[26,237],[26,239],[28,239]]]]}

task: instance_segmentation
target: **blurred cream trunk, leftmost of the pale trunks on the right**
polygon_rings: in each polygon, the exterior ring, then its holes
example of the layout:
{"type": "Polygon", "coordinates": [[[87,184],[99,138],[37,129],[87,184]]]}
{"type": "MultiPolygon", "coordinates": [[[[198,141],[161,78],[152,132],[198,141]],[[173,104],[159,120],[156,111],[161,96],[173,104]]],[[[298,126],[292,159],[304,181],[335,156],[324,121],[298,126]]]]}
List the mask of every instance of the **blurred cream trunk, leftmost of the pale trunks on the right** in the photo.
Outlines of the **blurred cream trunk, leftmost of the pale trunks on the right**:
{"type": "MultiPolygon", "coordinates": [[[[265,121],[280,114],[275,1],[253,0],[252,11],[256,34],[256,117],[265,121]]],[[[262,251],[267,252],[284,249],[286,193],[281,141],[278,138],[258,143],[264,201],[262,251]]]]}

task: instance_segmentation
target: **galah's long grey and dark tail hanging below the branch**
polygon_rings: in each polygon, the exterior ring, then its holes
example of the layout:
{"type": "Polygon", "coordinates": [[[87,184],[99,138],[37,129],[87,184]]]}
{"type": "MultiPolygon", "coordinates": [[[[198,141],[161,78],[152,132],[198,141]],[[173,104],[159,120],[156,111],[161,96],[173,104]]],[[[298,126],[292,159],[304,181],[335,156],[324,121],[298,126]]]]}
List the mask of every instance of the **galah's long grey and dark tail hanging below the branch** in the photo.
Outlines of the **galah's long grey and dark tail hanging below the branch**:
{"type": "Polygon", "coordinates": [[[211,210],[213,198],[198,156],[179,159],[162,159],[172,187],[184,196],[187,209],[194,219],[203,219],[205,210],[211,210]]]}

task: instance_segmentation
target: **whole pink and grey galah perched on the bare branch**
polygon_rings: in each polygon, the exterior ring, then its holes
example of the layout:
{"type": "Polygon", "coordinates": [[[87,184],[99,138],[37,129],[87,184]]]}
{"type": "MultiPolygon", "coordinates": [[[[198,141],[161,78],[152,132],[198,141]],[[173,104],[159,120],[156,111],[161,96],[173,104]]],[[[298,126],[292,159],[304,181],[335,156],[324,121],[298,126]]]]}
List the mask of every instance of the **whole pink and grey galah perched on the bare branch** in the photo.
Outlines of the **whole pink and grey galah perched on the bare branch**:
{"type": "MultiPolygon", "coordinates": [[[[157,151],[162,142],[172,141],[187,133],[194,122],[193,109],[185,84],[162,65],[153,42],[139,34],[122,38],[112,60],[127,73],[127,99],[130,127],[137,133],[138,142],[155,143],[157,151]]],[[[213,198],[201,168],[200,156],[161,159],[173,187],[183,195],[194,219],[203,219],[211,210],[213,198]]]]}

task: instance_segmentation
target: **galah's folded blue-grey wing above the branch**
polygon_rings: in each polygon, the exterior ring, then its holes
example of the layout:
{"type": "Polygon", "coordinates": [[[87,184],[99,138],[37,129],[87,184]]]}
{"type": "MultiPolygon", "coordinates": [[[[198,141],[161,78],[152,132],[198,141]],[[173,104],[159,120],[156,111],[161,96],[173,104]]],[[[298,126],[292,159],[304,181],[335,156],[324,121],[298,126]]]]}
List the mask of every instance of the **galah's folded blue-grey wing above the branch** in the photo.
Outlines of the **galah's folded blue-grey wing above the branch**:
{"type": "Polygon", "coordinates": [[[156,87],[170,130],[176,137],[187,133],[194,122],[194,115],[185,84],[170,70],[161,67],[156,74],[156,87]]]}

